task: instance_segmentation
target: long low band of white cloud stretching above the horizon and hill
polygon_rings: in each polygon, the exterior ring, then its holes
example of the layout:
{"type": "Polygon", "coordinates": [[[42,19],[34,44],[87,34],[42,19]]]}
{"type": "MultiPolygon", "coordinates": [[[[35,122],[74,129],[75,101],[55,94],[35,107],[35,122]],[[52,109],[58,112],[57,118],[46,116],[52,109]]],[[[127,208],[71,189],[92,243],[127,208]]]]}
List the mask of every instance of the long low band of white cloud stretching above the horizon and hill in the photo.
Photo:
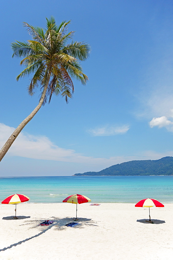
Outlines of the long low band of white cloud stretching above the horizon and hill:
{"type": "MultiPolygon", "coordinates": [[[[2,147],[15,128],[0,123],[0,146],[2,147]]],[[[112,156],[110,158],[93,158],[83,156],[71,149],[61,148],[51,142],[46,136],[33,136],[20,133],[5,156],[19,156],[33,159],[54,160],[62,162],[75,162],[91,166],[100,171],[114,164],[120,164],[132,160],[156,160],[165,156],[173,156],[173,151],[156,153],[154,151],[142,151],[128,156],[112,156]]]]}

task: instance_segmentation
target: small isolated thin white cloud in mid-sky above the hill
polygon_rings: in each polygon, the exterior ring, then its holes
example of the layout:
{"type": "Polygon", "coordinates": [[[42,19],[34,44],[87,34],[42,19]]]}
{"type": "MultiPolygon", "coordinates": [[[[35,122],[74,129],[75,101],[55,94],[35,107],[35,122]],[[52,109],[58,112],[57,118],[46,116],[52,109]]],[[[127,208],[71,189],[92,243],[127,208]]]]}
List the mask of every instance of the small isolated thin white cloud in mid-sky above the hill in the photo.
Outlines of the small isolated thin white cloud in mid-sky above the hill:
{"type": "Polygon", "coordinates": [[[129,126],[105,126],[96,127],[94,129],[89,129],[87,132],[94,136],[110,136],[116,134],[125,134],[129,130],[129,126]]]}

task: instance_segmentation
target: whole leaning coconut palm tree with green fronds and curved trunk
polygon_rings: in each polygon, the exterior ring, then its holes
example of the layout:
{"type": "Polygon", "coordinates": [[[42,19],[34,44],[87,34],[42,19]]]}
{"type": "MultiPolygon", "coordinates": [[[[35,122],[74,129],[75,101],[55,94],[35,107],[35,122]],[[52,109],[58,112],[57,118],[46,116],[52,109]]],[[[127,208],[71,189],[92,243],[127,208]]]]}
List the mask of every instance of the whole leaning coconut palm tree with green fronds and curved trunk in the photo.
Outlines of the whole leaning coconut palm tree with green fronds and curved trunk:
{"type": "Polygon", "coordinates": [[[86,84],[88,81],[88,77],[82,71],[80,61],[88,58],[89,44],[71,40],[74,32],[68,33],[67,31],[70,21],[63,21],[60,25],[56,25],[54,17],[51,16],[46,20],[46,29],[24,23],[32,40],[16,41],[11,44],[12,57],[24,58],[20,64],[25,69],[16,79],[33,75],[28,93],[32,96],[35,88],[40,88],[41,98],[38,106],[20,123],[2,147],[0,161],[40,107],[46,103],[47,99],[48,102],[51,101],[52,94],[65,97],[68,103],[68,99],[72,97],[74,92],[71,78],[81,81],[82,84],[86,84]],[[67,44],[69,40],[71,43],[67,44]]]}

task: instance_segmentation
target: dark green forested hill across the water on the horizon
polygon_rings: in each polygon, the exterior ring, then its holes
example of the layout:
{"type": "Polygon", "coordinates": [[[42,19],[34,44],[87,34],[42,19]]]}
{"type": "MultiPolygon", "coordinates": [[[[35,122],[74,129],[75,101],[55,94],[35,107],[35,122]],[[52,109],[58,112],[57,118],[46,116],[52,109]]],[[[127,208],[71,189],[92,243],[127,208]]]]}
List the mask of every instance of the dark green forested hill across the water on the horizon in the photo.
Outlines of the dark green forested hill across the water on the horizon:
{"type": "Polygon", "coordinates": [[[167,156],[159,160],[122,162],[99,172],[76,173],[73,176],[105,175],[173,175],[173,157],[167,156]]]}

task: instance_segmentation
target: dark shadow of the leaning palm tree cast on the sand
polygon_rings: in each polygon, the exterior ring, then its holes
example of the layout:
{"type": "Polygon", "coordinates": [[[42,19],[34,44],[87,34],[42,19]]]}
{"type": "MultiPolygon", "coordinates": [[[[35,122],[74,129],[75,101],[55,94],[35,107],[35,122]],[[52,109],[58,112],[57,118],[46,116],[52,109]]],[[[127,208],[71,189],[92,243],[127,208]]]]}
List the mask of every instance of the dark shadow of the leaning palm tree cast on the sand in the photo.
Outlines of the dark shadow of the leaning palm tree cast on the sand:
{"type": "MultiPolygon", "coordinates": [[[[13,216],[11,216],[13,217],[13,216]]],[[[24,218],[30,218],[30,217],[25,217],[25,216],[20,216],[20,217],[24,217],[24,218]]],[[[4,219],[4,218],[3,218],[4,219]]],[[[13,218],[14,220],[14,218],[13,218]]],[[[49,225],[49,226],[39,226],[40,223],[42,223],[43,221],[45,221],[45,219],[37,219],[37,220],[30,220],[32,222],[30,223],[25,223],[23,225],[26,225],[26,224],[34,224],[34,226],[31,226],[31,228],[35,228],[35,229],[42,229],[41,232],[39,232],[38,234],[32,236],[32,237],[29,237],[29,238],[26,238],[22,241],[19,241],[17,243],[14,243],[8,247],[4,247],[3,249],[0,249],[0,252],[1,251],[5,251],[7,249],[10,249],[12,248],[13,246],[17,246],[17,245],[20,245],[21,243],[24,243],[34,237],[38,237],[40,235],[42,235],[43,233],[45,233],[47,230],[51,229],[52,227],[56,227],[54,230],[64,230],[64,229],[67,229],[67,228],[71,228],[71,227],[67,227],[65,226],[66,224],[70,223],[70,222],[74,222],[73,218],[56,218],[56,217],[51,217],[49,218],[49,220],[53,220],[54,223],[49,225]]],[[[27,222],[27,220],[26,220],[27,222]]],[[[88,226],[97,226],[97,225],[94,225],[92,223],[95,223],[93,222],[91,219],[88,219],[88,218],[79,218],[78,221],[80,224],[75,226],[74,228],[85,228],[85,227],[88,227],[88,226]]]]}

